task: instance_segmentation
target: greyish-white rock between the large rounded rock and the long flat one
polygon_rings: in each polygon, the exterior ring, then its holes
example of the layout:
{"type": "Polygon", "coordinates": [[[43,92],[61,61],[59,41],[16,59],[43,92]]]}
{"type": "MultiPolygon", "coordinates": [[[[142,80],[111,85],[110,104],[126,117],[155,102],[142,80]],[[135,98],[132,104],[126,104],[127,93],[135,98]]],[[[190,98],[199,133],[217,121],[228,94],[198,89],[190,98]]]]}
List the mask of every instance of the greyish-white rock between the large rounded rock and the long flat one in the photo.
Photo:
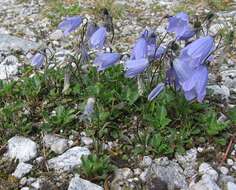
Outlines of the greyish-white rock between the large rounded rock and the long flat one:
{"type": "Polygon", "coordinates": [[[43,137],[43,143],[56,154],[62,154],[69,148],[68,140],[51,134],[47,134],[43,137]]]}

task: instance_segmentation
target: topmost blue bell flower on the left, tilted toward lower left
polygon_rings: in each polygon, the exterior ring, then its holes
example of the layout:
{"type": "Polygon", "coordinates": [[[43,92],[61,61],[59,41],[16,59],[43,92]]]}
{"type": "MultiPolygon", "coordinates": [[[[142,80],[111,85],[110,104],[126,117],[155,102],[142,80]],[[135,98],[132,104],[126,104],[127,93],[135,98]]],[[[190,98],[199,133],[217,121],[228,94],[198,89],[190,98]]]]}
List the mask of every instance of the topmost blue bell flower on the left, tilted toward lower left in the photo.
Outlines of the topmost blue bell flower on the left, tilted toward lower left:
{"type": "Polygon", "coordinates": [[[64,32],[64,35],[67,36],[71,32],[75,31],[83,22],[83,17],[81,16],[72,16],[66,18],[64,21],[62,21],[58,28],[61,29],[64,32]]]}

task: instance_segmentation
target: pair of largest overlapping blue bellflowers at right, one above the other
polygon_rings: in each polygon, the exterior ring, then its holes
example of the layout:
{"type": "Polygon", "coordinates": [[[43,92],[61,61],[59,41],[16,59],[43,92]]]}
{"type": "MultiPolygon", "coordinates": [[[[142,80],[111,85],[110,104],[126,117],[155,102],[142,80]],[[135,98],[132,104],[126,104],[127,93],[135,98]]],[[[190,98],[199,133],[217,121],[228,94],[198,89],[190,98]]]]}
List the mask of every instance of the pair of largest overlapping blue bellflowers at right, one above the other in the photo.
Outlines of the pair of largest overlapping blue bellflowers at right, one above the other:
{"type": "Polygon", "coordinates": [[[203,101],[208,81],[204,63],[213,49],[213,38],[202,37],[182,49],[180,56],[174,60],[173,66],[187,100],[197,98],[199,102],[203,101]]]}

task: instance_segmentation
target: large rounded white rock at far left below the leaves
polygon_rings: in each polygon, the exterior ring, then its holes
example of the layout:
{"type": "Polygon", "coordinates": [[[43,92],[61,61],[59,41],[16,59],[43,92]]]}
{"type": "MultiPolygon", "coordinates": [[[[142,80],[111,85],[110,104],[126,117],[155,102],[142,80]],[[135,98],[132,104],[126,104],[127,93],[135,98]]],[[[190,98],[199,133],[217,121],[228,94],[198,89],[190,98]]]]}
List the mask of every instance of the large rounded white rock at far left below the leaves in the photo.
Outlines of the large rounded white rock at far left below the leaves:
{"type": "Polygon", "coordinates": [[[15,136],[8,140],[8,151],[6,156],[11,159],[19,159],[27,162],[37,156],[37,144],[25,137],[15,136]]]}

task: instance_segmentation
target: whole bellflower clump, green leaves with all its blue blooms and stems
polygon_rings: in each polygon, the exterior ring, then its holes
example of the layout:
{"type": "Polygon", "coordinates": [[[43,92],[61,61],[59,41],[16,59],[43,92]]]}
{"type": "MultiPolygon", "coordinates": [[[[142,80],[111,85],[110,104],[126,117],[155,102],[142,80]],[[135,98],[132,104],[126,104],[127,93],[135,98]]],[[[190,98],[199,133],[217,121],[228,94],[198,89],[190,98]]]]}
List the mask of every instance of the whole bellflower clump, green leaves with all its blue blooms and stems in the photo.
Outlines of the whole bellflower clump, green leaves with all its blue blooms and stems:
{"type": "Polygon", "coordinates": [[[219,108],[207,88],[219,51],[230,43],[222,31],[209,31],[214,16],[156,18],[133,41],[122,41],[112,10],[94,17],[74,15],[78,7],[72,15],[60,10],[55,30],[61,38],[46,38],[20,80],[0,80],[0,132],[77,131],[99,146],[116,142],[97,152],[92,145],[93,154],[82,158],[81,175],[101,180],[134,155],[220,147],[232,135],[235,108],[219,108]],[[219,112],[227,119],[219,121],[219,112]]]}

